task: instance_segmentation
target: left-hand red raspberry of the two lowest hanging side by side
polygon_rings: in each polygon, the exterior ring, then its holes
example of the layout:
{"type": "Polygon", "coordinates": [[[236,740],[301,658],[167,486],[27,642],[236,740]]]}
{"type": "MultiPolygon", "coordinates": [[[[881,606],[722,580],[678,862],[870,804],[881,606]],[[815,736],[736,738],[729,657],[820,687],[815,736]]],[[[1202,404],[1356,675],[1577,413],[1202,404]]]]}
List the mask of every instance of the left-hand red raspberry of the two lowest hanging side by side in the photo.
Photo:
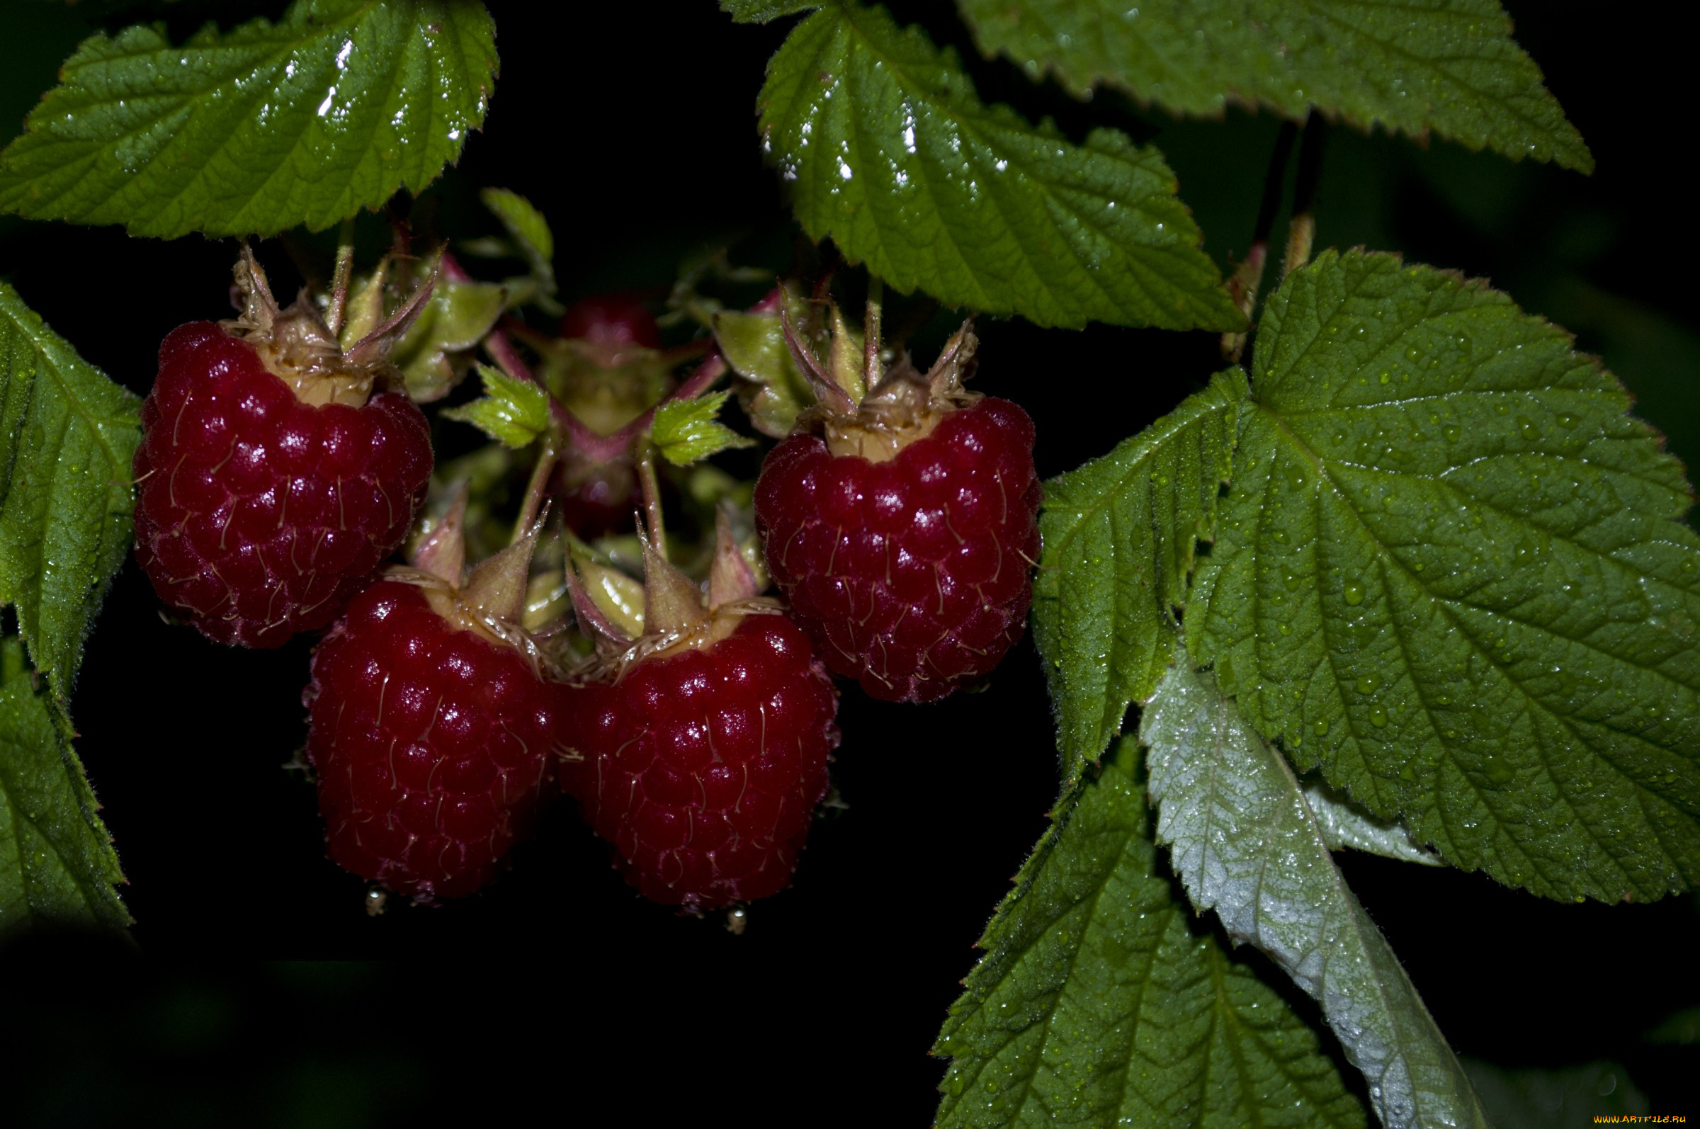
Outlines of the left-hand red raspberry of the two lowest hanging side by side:
{"type": "Polygon", "coordinates": [[[490,622],[444,585],[382,580],[313,653],[303,702],[330,857],[415,901],[495,879],[552,787],[566,689],[490,622]]]}

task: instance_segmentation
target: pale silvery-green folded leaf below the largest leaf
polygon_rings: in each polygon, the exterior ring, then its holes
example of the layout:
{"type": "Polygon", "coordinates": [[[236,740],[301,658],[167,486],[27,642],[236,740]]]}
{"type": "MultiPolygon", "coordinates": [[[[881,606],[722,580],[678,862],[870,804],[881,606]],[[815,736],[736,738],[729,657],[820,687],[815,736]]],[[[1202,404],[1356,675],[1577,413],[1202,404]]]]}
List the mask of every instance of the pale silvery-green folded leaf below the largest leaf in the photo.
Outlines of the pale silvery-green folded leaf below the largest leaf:
{"type": "Polygon", "coordinates": [[[1156,837],[1198,910],[1266,952],[1318,1003],[1387,1129],[1488,1115],[1380,930],[1346,888],[1292,769],[1192,663],[1139,724],[1156,837]]]}

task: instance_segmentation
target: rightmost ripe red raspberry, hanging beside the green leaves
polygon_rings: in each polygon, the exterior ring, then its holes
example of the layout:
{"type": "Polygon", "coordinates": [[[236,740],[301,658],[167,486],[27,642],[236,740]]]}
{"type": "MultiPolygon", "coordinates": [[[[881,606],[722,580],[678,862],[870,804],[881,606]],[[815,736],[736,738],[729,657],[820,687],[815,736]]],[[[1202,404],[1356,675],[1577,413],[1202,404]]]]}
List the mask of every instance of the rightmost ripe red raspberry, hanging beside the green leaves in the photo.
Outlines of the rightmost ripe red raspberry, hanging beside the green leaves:
{"type": "Polygon", "coordinates": [[[964,333],[921,377],[899,366],[762,464],[768,570],[836,673],[928,702],[991,672],[1020,638],[1039,559],[1034,423],[960,391],[964,333]]]}

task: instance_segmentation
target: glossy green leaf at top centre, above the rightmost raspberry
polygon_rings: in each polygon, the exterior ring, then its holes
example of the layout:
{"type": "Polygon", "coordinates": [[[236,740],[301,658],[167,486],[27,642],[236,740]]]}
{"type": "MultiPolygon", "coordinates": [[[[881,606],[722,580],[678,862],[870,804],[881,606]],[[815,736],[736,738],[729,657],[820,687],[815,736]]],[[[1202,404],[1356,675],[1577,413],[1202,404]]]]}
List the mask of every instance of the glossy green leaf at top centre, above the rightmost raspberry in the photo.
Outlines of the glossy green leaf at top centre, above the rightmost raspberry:
{"type": "Polygon", "coordinates": [[[884,9],[801,22],[760,105],[804,230],[899,291],[1039,325],[1243,321],[1156,150],[984,105],[955,53],[884,9]]]}

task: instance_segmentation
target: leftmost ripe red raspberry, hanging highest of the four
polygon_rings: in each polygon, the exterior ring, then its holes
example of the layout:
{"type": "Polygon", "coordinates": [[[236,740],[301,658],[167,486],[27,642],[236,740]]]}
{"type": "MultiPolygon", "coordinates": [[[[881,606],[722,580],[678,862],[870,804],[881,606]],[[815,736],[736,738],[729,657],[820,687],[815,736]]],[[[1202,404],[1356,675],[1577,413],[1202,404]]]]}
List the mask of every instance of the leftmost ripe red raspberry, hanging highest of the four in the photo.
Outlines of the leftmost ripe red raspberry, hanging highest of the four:
{"type": "Polygon", "coordinates": [[[207,638],[260,648],[323,627],[371,583],[432,469],[420,410],[367,398],[374,366],[286,340],[289,318],[321,330],[316,311],[267,318],[245,337],[172,330],[134,459],[136,559],[155,592],[207,638]]]}

